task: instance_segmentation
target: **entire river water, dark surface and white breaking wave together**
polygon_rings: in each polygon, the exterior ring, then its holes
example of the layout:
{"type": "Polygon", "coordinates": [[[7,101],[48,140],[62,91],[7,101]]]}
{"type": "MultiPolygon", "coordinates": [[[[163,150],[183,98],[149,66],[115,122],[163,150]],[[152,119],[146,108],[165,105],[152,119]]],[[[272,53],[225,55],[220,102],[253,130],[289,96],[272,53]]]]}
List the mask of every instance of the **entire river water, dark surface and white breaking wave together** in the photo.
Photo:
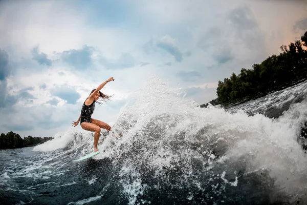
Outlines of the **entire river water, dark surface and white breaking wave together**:
{"type": "Polygon", "coordinates": [[[110,134],[74,129],[0,151],[1,204],[307,204],[307,81],[227,109],[158,77],[110,134]],[[117,139],[116,139],[117,138],[117,139]]]}

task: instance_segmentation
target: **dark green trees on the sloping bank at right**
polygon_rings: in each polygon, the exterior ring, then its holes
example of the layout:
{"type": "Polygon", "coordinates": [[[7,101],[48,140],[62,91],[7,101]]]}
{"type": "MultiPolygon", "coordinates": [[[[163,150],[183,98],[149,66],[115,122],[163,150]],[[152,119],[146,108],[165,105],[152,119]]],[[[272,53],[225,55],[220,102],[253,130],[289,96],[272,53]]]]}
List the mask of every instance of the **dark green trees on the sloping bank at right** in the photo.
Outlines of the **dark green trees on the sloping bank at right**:
{"type": "MultiPolygon", "coordinates": [[[[239,100],[263,96],[268,92],[289,87],[307,79],[307,31],[295,43],[280,47],[282,53],[269,56],[253,69],[242,68],[224,81],[218,81],[217,98],[212,105],[235,103],[239,100]],[[289,48],[288,48],[289,47],[289,48]]],[[[207,104],[201,107],[207,107],[207,104]]]]}

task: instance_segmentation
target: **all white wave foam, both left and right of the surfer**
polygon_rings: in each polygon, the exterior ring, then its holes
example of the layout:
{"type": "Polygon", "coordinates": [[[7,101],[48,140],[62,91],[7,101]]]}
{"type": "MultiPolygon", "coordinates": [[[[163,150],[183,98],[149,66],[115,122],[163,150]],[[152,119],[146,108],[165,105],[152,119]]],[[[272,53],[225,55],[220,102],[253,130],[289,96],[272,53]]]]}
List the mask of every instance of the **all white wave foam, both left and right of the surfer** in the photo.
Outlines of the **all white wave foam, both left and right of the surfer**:
{"type": "MultiPolygon", "coordinates": [[[[300,87],[294,90],[297,88],[300,87]]],[[[287,92],[290,93],[291,89],[287,92]]],[[[276,103],[278,95],[275,93],[272,96],[269,99],[276,103]]],[[[287,100],[284,97],[286,95],[281,94],[281,98],[287,100]]],[[[122,108],[111,133],[100,137],[98,148],[104,152],[94,159],[109,157],[113,166],[120,168],[120,183],[130,204],[136,203],[138,195],[142,195],[147,188],[141,180],[140,169],[137,169],[144,166],[153,170],[154,178],[166,183],[168,175],[165,170],[176,172],[181,166],[183,176],[177,186],[190,180],[204,191],[204,181],[200,181],[198,173],[193,172],[193,161],[200,161],[199,166],[206,171],[218,166],[216,162],[220,165],[229,163],[230,167],[232,161],[243,158],[247,166],[245,174],[266,170],[275,180],[274,186],[282,188],[289,195],[307,190],[307,158],[297,142],[300,126],[307,116],[306,100],[292,105],[278,119],[270,119],[262,114],[249,116],[244,111],[230,113],[213,106],[206,109],[197,106],[185,99],[177,89],[169,88],[164,80],[154,76],[122,108]],[[220,154],[214,151],[216,148],[220,149],[220,154]]],[[[262,105],[253,106],[253,109],[257,109],[257,106],[262,105]]],[[[45,153],[43,160],[59,159],[55,160],[57,162],[53,166],[56,170],[62,166],[60,159],[67,154],[77,151],[78,156],[84,156],[92,149],[93,134],[67,131],[33,150],[52,151],[50,154],[45,153]],[[67,150],[61,150],[63,148],[67,150]]],[[[44,166],[42,162],[25,171],[34,174],[44,166]]],[[[35,174],[42,176],[40,173],[35,174]]],[[[60,174],[63,172],[53,173],[60,174]]],[[[236,187],[242,183],[235,172],[228,173],[226,170],[208,178],[207,183],[213,183],[216,178],[224,181],[223,185],[212,185],[211,191],[216,194],[220,194],[218,190],[225,189],[225,186],[236,187]],[[231,174],[231,178],[226,177],[226,173],[231,174]]],[[[92,178],[88,182],[92,185],[95,181],[96,178],[92,178]]],[[[71,203],[84,204],[102,196],[71,203]]],[[[187,197],[192,200],[193,195],[187,197]]]]}

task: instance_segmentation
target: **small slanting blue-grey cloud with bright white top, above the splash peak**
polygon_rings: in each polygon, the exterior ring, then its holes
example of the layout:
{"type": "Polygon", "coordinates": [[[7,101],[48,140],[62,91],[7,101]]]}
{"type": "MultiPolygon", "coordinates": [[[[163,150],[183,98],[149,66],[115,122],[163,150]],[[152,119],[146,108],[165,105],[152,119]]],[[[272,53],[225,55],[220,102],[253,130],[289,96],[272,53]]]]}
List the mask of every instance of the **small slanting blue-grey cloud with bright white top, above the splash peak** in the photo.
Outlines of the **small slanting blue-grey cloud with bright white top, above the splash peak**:
{"type": "Polygon", "coordinates": [[[159,42],[157,42],[157,47],[167,51],[174,56],[176,61],[181,62],[183,60],[183,54],[180,49],[176,46],[175,40],[169,35],[163,36],[159,42]]]}

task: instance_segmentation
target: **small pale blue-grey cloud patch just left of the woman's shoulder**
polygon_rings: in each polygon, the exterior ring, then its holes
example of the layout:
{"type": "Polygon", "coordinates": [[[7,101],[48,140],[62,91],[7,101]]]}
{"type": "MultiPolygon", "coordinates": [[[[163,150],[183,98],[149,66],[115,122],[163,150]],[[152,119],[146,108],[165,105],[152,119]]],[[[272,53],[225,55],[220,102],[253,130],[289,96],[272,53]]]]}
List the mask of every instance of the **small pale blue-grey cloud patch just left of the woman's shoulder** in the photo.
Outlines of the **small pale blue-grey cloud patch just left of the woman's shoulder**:
{"type": "Polygon", "coordinates": [[[81,95],[75,89],[67,85],[57,86],[56,88],[52,89],[50,93],[53,96],[66,100],[68,104],[73,105],[75,105],[77,100],[81,97],[81,95]]]}

